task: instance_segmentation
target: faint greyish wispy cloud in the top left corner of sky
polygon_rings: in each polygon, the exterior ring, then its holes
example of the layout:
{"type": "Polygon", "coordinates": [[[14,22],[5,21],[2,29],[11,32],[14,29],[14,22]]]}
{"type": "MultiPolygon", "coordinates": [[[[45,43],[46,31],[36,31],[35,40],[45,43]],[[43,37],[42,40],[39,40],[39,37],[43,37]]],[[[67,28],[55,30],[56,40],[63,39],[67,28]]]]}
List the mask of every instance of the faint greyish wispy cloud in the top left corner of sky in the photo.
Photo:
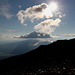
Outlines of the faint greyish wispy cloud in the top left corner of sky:
{"type": "Polygon", "coordinates": [[[10,8],[11,8],[11,6],[7,0],[1,1],[0,2],[0,15],[4,16],[6,18],[11,18],[13,16],[13,14],[11,14],[10,8]]]}

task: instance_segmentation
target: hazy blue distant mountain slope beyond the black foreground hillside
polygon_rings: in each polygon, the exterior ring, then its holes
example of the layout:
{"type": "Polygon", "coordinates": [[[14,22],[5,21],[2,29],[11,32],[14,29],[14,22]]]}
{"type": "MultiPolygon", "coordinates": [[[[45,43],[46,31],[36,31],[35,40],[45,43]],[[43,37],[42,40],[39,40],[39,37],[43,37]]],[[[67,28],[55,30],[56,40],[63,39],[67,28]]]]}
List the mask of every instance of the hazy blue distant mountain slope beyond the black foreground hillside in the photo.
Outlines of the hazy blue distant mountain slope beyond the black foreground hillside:
{"type": "Polygon", "coordinates": [[[23,54],[39,47],[41,44],[49,44],[48,41],[22,40],[18,42],[0,45],[0,60],[11,56],[23,54]]]}

